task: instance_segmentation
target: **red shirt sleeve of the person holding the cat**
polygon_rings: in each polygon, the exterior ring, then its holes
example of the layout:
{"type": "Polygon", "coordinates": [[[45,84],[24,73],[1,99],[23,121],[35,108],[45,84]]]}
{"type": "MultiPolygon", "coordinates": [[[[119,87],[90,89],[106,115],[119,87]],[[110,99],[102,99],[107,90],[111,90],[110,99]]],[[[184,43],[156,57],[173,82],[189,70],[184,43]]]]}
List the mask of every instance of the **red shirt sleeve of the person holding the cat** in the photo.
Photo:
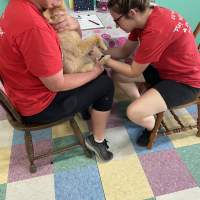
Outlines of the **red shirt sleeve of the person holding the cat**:
{"type": "Polygon", "coordinates": [[[62,54],[56,33],[30,29],[16,39],[27,70],[37,77],[51,76],[62,68],[62,54]]]}

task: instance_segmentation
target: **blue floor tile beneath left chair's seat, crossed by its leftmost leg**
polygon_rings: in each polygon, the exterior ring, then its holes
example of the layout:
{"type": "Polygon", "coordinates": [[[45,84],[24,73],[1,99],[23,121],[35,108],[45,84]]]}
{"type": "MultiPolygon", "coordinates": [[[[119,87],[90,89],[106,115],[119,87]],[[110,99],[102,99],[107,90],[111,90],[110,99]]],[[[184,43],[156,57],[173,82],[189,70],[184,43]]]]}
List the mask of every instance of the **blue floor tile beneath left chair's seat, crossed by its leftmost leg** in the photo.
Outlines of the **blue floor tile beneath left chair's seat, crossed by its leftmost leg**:
{"type": "MultiPolygon", "coordinates": [[[[33,141],[50,140],[52,137],[52,129],[42,129],[38,131],[32,131],[33,141]]],[[[13,134],[13,145],[24,144],[24,132],[14,130],[13,134]]]]}

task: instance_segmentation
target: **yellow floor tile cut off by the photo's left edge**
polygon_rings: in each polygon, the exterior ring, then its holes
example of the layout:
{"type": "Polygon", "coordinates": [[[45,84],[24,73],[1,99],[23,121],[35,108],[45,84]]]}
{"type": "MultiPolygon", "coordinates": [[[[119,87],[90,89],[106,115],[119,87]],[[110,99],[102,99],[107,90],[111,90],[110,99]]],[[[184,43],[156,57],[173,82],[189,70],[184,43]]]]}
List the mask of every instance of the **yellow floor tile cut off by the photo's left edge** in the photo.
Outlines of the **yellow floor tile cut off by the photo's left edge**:
{"type": "Polygon", "coordinates": [[[7,183],[11,151],[0,148],[0,184],[7,183]]]}

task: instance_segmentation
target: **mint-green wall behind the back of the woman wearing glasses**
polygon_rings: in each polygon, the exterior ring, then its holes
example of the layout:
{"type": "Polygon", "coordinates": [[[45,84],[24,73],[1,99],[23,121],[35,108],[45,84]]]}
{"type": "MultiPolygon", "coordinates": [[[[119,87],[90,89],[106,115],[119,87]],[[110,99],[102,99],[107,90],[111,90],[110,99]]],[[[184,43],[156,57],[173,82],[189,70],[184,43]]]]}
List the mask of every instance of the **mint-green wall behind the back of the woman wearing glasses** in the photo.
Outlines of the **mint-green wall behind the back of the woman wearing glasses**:
{"type": "MultiPolygon", "coordinates": [[[[155,2],[179,12],[188,21],[192,30],[200,22],[200,0],[155,0],[155,2]]],[[[200,43],[200,34],[197,41],[200,43]]]]}

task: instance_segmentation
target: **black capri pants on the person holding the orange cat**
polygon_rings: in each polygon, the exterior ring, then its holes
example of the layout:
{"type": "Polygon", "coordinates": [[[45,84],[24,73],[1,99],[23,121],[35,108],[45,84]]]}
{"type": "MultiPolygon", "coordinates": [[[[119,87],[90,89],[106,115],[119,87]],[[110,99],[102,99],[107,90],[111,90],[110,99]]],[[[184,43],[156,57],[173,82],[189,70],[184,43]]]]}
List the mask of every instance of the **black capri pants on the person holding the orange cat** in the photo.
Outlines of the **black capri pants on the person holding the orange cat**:
{"type": "Polygon", "coordinates": [[[24,116],[25,123],[49,123],[84,111],[92,106],[97,111],[111,110],[114,85],[106,71],[89,83],[68,91],[58,92],[42,112],[24,116]]]}

